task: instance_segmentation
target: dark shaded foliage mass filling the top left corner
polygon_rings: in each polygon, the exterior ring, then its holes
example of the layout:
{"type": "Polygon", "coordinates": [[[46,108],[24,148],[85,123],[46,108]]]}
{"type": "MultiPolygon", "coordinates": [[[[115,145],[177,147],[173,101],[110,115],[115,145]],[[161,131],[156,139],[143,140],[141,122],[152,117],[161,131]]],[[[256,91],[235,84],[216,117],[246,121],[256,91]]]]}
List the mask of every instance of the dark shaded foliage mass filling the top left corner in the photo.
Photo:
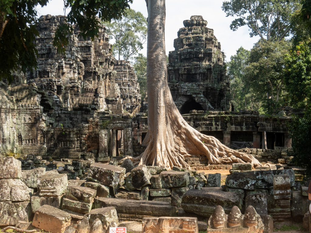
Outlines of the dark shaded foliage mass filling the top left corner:
{"type": "Polygon", "coordinates": [[[26,72],[37,65],[35,37],[36,7],[44,6],[48,0],[0,1],[0,80],[13,80],[12,72],[26,72]],[[3,33],[2,33],[3,32],[3,33]]]}

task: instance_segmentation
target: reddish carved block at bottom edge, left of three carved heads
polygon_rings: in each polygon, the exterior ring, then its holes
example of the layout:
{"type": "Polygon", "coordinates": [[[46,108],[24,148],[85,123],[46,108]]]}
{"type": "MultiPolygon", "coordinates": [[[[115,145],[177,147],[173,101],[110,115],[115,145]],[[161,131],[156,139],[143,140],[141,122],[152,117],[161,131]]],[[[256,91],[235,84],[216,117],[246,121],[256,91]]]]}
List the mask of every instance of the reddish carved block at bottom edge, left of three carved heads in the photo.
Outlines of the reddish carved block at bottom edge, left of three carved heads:
{"type": "Polygon", "coordinates": [[[146,217],[142,219],[142,233],[174,232],[198,233],[197,218],[146,217]]]}

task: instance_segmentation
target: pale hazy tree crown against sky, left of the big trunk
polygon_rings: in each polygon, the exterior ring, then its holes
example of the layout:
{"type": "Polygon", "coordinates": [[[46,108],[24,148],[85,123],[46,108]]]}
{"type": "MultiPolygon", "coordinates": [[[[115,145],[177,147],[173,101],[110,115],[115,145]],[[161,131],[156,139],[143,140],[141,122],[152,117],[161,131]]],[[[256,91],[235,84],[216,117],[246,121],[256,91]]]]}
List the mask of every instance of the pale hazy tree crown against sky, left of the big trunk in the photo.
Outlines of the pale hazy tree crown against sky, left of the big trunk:
{"type": "Polygon", "coordinates": [[[105,21],[107,34],[115,39],[113,55],[128,60],[143,49],[147,39],[147,20],[139,11],[126,9],[123,18],[105,21]]]}

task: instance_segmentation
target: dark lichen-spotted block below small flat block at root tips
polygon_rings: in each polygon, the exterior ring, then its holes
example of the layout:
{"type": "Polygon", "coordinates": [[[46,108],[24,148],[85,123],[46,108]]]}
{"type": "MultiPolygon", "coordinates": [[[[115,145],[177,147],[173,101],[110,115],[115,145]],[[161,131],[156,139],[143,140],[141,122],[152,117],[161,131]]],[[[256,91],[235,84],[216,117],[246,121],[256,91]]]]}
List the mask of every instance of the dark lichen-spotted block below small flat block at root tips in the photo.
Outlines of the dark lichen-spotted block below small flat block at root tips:
{"type": "Polygon", "coordinates": [[[255,172],[240,172],[230,174],[226,178],[225,185],[229,188],[254,190],[256,184],[255,172]]]}

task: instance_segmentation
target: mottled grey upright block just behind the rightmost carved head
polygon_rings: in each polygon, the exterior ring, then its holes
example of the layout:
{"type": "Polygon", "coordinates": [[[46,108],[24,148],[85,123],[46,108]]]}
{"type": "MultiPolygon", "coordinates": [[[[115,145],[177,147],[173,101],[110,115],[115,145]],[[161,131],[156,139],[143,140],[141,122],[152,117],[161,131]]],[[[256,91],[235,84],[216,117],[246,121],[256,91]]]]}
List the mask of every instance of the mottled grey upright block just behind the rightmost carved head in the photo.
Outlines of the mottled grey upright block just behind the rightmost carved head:
{"type": "Polygon", "coordinates": [[[267,194],[265,193],[258,193],[258,194],[250,194],[247,195],[245,198],[245,208],[248,206],[253,206],[256,212],[261,215],[268,214],[268,207],[267,207],[267,194]]]}

